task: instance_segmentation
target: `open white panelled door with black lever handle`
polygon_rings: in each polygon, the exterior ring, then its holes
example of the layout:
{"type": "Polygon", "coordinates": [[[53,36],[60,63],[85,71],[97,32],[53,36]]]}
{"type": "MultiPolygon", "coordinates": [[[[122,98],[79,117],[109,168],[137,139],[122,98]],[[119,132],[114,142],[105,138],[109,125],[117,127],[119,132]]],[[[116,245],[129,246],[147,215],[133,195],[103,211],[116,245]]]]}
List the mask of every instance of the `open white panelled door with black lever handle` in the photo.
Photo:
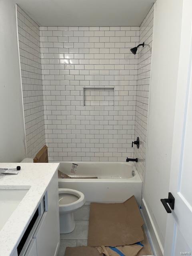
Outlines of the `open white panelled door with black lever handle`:
{"type": "Polygon", "coordinates": [[[168,191],[174,196],[175,204],[172,213],[168,213],[164,256],[192,255],[192,0],[183,0],[176,88],[168,191]]]}

